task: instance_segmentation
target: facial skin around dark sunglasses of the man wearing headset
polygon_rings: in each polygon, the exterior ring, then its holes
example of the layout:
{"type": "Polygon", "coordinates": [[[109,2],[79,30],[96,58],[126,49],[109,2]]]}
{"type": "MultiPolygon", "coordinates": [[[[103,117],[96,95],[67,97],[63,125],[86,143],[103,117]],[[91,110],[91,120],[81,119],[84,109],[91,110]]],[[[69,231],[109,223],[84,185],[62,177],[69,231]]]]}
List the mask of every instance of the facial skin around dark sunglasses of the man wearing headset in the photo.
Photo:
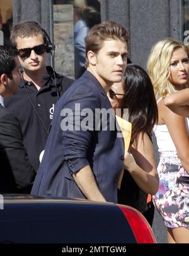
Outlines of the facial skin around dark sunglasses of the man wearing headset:
{"type": "MultiPolygon", "coordinates": [[[[21,38],[18,37],[16,39],[16,48],[18,50],[20,49],[26,49],[26,48],[33,48],[38,45],[43,45],[44,40],[42,35],[37,35],[33,37],[25,37],[21,38]]],[[[21,66],[23,66],[24,69],[28,71],[38,71],[45,67],[45,60],[46,60],[46,52],[44,52],[41,55],[36,54],[34,50],[31,50],[31,54],[27,58],[22,58],[19,56],[19,61],[21,66]]]]}

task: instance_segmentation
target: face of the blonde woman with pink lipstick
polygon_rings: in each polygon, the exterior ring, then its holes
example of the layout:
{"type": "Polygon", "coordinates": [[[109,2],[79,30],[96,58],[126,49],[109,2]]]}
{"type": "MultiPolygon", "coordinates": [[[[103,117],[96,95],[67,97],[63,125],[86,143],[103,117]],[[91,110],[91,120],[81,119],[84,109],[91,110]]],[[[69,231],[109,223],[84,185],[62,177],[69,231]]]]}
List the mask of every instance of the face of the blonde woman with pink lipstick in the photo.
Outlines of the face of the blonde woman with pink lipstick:
{"type": "Polygon", "coordinates": [[[179,48],[173,52],[170,62],[169,81],[175,86],[176,90],[185,88],[187,74],[189,73],[188,55],[185,50],[179,48]]]}

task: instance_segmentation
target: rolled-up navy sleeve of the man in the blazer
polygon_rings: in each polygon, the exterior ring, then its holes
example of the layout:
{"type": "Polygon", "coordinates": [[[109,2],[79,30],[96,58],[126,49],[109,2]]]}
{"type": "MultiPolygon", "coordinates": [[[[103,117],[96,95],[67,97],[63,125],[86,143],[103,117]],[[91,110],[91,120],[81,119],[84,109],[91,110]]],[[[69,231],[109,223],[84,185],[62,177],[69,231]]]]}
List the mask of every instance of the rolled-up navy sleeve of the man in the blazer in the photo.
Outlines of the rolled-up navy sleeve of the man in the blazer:
{"type": "MultiPolygon", "coordinates": [[[[72,110],[72,117],[69,117],[68,123],[70,125],[69,127],[73,129],[62,131],[63,158],[66,160],[71,174],[89,165],[87,156],[93,143],[93,137],[95,136],[95,109],[100,108],[100,102],[95,90],[91,90],[91,87],[86,86],[86,90],[84,91],[83,86],[81,87],[81,89],[77,88],[76,93],[71,97],[69,103],[64,106],[64,109],[72,110]],[[79,104],[79,111],[78,108],[77,110],[75,108],[76,104],[79,104]],[[85,118],[88,117],[88,115],[81,115],[82,110],[86,108],[89,109],[91,115],[91,122],[88,124],[89,129],[83,131],[80,127],[79,131],[76,131],[78,124],[81,124],[82,121],[85,123],[85,118]]],[[[62,115],[62,120],[66,118],[66,115],[62,115]]]]}

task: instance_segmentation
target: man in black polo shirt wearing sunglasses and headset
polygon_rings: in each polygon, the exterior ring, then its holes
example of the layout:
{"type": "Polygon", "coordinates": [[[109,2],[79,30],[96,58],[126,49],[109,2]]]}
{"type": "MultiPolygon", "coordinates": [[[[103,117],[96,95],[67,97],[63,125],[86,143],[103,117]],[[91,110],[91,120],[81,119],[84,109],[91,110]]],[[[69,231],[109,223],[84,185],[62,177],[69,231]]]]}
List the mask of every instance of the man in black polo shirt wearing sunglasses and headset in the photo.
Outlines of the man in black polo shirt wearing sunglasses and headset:
{"type": "Polygon", "coordinates": [[[55,47],[47,32],[36,21],[21,21],[15,25],[11,42],[18,51],[23,73],[18,93],[15,98],[5,100],[5,105],[20,120],[25,148],[37,171],[54,105],[73,81],[46,66],[47,53],[52,53],[55,47]]]}

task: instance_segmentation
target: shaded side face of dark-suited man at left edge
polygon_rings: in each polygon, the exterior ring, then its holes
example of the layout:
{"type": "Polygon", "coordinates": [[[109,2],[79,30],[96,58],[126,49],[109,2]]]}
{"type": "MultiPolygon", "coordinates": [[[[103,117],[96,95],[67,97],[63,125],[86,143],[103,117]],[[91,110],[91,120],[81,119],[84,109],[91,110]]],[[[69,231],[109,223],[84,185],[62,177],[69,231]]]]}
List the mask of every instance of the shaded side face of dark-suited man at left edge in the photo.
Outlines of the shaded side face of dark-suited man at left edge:
{"type": "Polygon", "coordinates": [[[4,92],[4,98],[9,95],[14,95],[18,91],[18,84],[20,83],[20,63],[18,57],[14,59],[16,67],[14,67],[12,76],[13,78],[6,78],[6,90],[4,92]]]}

